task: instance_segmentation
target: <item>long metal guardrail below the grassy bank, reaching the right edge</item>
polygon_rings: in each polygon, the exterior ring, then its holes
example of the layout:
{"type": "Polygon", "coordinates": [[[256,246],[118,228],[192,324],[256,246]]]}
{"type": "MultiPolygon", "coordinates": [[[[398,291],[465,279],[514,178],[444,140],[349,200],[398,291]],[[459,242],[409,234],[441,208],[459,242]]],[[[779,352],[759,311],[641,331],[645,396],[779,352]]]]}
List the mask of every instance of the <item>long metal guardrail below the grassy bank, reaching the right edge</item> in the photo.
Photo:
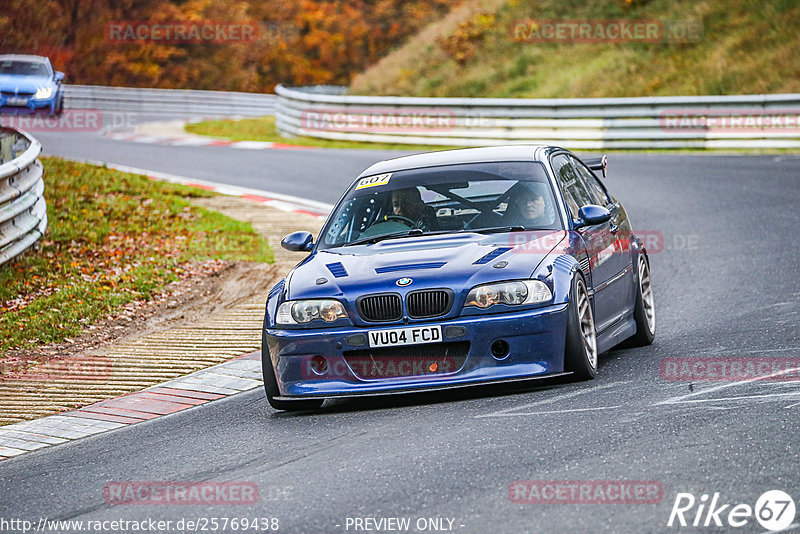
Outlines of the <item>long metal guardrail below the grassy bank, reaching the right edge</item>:
{"type": "Polygon", "coordinates": [[[278,130],[290,136],[456,146],[800,147],[800,94],[421,98],[348,96],[341,88],[333,89],[279,85],[278,130]]]}

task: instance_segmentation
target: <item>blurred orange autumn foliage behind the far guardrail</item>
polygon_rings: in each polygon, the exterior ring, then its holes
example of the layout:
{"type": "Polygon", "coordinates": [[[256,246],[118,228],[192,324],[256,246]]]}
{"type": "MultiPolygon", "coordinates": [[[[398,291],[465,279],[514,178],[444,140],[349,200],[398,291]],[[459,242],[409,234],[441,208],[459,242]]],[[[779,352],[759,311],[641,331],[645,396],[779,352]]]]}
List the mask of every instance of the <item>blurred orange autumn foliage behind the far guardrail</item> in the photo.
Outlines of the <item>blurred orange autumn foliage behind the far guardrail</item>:
{"type": "Polygon", "coordinates": [[[348,84],[459,0],[2,0],[0,53],[49,56],[67,83],[271,91],[348,84]],[[107,25],[246,22],[247,42],[113,42],[107,25]]]}

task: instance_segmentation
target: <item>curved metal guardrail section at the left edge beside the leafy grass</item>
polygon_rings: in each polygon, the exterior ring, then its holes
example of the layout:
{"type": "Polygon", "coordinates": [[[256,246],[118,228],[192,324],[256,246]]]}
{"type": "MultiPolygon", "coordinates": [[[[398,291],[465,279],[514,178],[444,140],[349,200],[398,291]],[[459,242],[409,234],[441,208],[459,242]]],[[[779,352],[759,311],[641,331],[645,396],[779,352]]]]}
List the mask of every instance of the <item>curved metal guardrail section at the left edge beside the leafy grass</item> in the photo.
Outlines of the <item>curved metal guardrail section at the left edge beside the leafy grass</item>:
{"type": "Polygon", "coordinates": [[[47,228],[41,151],[29,134],[0,129],[0,265],[28,250],[47,228]]]}

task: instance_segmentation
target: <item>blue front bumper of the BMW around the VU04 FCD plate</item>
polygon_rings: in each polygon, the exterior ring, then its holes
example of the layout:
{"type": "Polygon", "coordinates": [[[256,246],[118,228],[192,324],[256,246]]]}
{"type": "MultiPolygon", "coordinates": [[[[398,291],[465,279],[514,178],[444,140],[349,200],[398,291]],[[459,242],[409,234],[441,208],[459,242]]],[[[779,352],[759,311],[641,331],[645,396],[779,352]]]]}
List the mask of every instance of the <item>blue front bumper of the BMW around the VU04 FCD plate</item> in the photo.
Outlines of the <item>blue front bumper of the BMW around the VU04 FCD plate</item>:
{"type": "MultiPolygon", "coordinates": [[[[435,353],[437,347],[469,343],[463,358],[449,359],[444,356],[444,365],[457,362],[452,369],[442,367],[437,373],[412,374],[417,360],[403,361],[403,356],[392,356],[392,369],[406,373],[389,373],[375,378],[367,376],[364,369],[353,365],[352,351],[362,351],[365,346],[354,346],[348,338],[369,331],[397,328],[398,325],[371,328],[347,327],[317,330],[268,329],[265,332],[266,347],[263,364],[272,365],[278,380],[281,398],[340,397],[354,395],[390,394],[400,392],[440,389],[443,387],[467,386],[511,379],[536,378],[559,374],[564,371],[564,341],[566,336],[567,304],[548,306],[515,313],[486,314],[459,317],[453,320],[434,322],[442,331],[452,333],[452,327],[461,327],[463,335],[448,337],[443,343],[430,344],[426,351],[435,353]],[[498,359],[492,355],[491,346],[503,340],[508,344],[508,355],[498,359]],[[465,343],[466,342],[466,343],[465,343]],[[431,352],[433,351],[433,352],[431,352]],[[348,356],[350,355],[350,356],[348,356]],[[313,360],[325,358],[325,372],[313,360]],[[456,368],[457,367],[457,368],[456,368]],[[356,372],[354,371],[354,369],[356,372]]],[[[401,325],[416,326],[416,325],[401,325]]],[[[458,330],[458,328],[456,328],[458,330]]],[[[407,345],[409,354],[415,345],[407,345]]],[[[380,351],[375,350],[376,353],[380,351]]],[[[397,351],[395,351],[396,353],[397,351]]],[[[383,368],[379,354],[369,356],[375,365],[383,368]]],[[[421,364],[427,368],[429,362],[438,361],[435,356],[421,364]]],[[[387,366],[388,369],[388,366],[387,366]]]]}

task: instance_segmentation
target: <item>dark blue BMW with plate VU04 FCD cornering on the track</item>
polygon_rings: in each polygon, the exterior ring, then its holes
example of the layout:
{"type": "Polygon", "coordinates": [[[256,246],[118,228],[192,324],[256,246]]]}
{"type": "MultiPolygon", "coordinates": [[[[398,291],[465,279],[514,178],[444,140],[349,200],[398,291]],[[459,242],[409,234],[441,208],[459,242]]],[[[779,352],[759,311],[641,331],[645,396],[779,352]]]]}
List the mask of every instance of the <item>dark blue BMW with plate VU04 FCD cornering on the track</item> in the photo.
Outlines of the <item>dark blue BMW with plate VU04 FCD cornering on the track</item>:
{"type": "Polygon", "coordinates": [[[269,293],[264,386],[279,410],[324,399],[571,374],[655,336],[650,264],[605,157],[553,146],[376,163],[269,293]]]}

